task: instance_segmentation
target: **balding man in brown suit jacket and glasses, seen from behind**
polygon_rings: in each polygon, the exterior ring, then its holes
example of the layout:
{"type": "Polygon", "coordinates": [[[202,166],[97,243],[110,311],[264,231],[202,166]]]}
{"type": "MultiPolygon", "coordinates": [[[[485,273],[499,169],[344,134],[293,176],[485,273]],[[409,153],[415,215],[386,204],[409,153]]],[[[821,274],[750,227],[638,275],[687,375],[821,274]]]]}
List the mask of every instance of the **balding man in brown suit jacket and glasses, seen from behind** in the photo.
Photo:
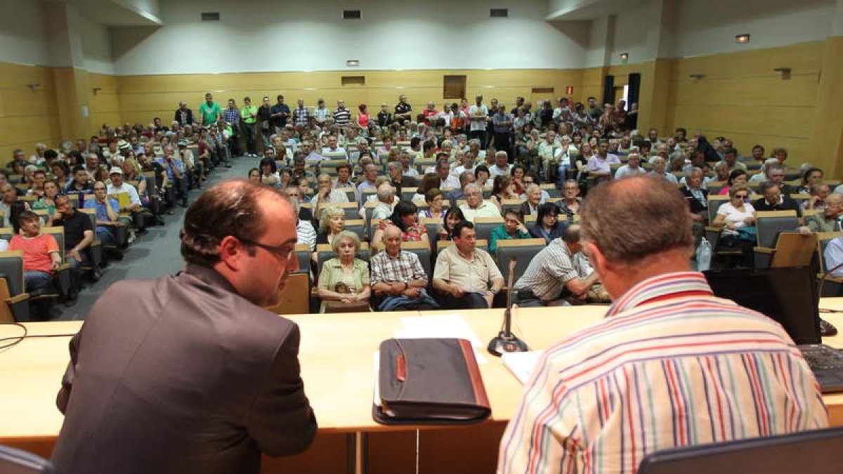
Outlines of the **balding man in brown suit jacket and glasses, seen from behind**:
{"type": "Polygon", "coordinates": [[[115,283],[73,337],[58,473],[249,473],[316,433],[298,326],[277,304],[297,267],[293,206],[227,181],[185,217],[185,270],[115,283]]]}

